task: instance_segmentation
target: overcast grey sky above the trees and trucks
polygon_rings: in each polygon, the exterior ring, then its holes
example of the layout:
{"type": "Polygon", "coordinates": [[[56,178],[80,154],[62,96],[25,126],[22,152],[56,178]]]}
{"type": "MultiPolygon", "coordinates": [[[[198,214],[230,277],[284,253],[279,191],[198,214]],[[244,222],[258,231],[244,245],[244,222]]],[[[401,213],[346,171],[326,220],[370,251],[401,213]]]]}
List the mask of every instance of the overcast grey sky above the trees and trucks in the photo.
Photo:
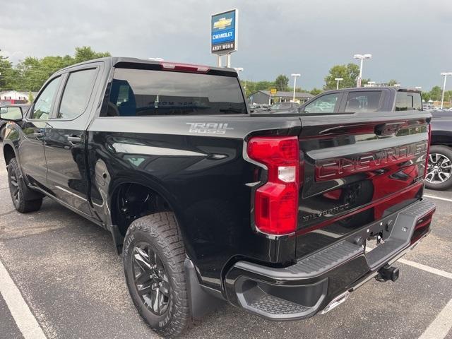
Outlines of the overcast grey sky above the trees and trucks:
{"type": "MultiPolygon", "coordinates": [[[[215,64],[210,14],[239,9],[242,78],[273,80],[301,73],[297,85],[321,87],[334,64],[371,53],[364,78],[403,86],[442,85],[452,71],[451,0],[158,1],[16,0],[2,6],[1,54],[73,54],[77,46],[128,57],[215,64]]],[[[452,79],[447,85],[452,89],[452,79]]]]}

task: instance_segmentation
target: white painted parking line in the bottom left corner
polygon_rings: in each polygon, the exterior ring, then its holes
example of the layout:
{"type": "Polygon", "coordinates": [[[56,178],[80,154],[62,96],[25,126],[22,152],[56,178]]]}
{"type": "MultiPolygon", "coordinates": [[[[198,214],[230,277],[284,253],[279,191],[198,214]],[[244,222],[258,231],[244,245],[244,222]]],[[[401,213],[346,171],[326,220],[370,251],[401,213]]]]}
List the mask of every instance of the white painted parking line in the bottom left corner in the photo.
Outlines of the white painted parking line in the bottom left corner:
{"type": "Polygon", "coordinates": [[[16,284],[0,261],[0,294],[8,305],[16,325],[25,339],[46,339],[16,284]]]}

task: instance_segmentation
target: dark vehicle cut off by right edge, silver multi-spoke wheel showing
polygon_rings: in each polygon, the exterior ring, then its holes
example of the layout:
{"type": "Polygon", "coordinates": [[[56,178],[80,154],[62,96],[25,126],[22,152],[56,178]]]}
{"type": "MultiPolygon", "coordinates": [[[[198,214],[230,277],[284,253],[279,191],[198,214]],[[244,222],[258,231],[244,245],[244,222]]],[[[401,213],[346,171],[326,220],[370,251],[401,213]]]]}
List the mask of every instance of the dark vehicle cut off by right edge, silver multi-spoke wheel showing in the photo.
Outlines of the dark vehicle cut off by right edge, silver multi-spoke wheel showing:
{"type": "Polygon", "coordinates": [[[429,189],[452,187],[452,112],[438,109],[432,113],[432,141],[425,186],[429,189]]]}

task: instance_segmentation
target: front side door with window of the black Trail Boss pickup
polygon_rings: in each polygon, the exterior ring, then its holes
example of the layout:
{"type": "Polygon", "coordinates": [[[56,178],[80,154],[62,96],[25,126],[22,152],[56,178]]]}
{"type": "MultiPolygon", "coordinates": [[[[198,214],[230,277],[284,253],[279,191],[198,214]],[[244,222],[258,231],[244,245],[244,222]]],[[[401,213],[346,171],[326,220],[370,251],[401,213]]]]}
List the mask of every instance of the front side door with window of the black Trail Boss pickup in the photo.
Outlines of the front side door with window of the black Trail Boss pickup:
{"type": "Polygon", "coordinates": [[[47,165],[44,156],[44,134],[47,121],[54,109],[55,98],[61,83],[61,76],[49,81],[35,100],[34,105],[22,122],[24,133],[20,145],[20,167],[28,180],[35,186],[46,188],[47,165]]]}

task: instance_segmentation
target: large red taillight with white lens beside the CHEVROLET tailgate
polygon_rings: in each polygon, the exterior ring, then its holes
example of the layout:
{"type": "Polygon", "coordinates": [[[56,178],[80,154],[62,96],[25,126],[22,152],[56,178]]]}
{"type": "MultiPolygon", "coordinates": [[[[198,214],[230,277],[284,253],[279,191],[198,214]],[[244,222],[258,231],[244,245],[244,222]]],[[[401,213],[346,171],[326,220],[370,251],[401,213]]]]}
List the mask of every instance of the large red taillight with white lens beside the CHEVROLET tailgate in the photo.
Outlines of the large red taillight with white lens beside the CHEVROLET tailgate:
{"type": "Polygon", "coordinates": [[[296,136],[251,138],[248,156],[268,169],[268,182],[256,190],[254,222],[268,234],[297,230],[299,147],[296,136]]]}

